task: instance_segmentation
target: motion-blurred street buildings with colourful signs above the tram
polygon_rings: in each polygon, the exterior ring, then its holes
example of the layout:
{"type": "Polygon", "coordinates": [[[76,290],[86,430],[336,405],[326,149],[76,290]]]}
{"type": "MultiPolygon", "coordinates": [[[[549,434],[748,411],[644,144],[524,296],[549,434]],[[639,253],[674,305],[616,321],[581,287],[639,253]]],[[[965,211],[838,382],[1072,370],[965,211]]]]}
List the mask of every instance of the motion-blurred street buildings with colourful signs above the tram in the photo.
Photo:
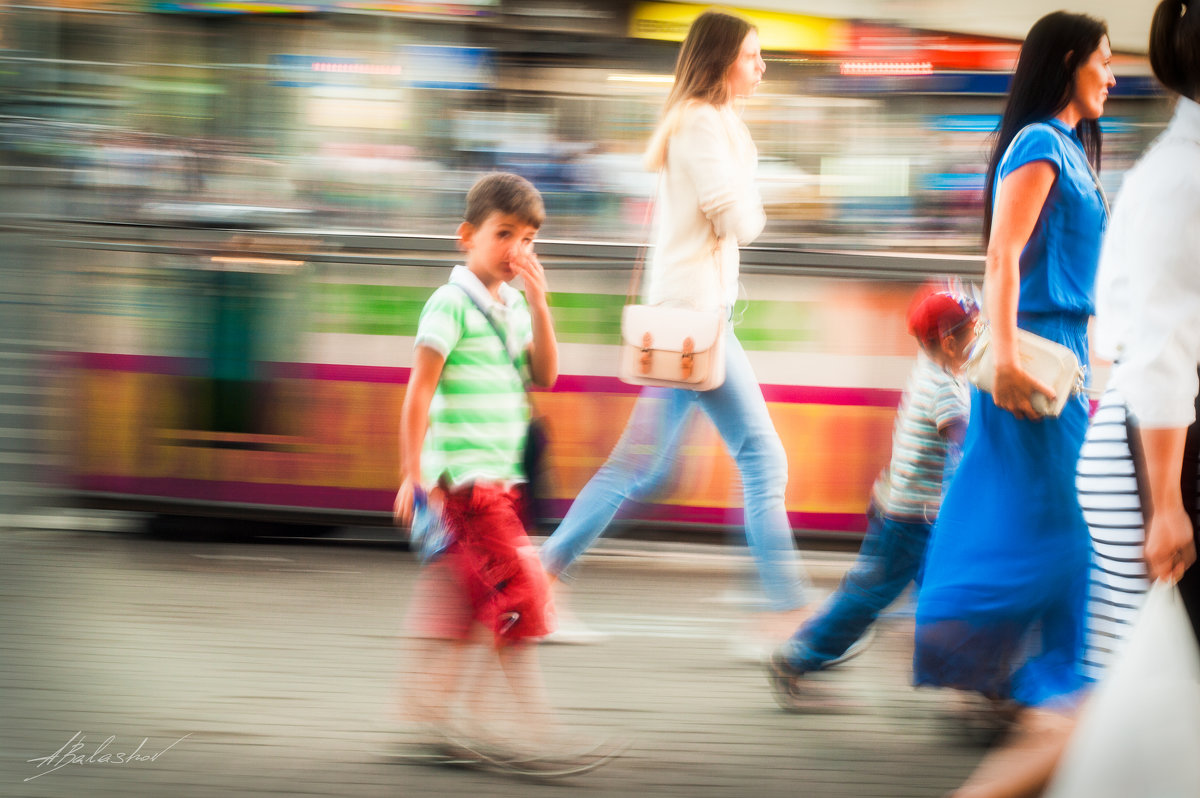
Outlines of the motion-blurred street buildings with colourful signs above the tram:
{"type": "MultiPolygon", "coordinates": [[[[750,4],[766,241],[976,251],[1019,0],[750,4]],[[797,13],[798,10],[805,13],[797,13]]],[[[1092,4],[1096,5],[1096,4],[1092,4]]],[[[1148,10],[1108,14],[1110,188],[1160,126],[1148,10]],[[1145,17],[1145,19],[1142,19],[1145,17]]],[[[446,233],[480,170],[548,197],[547,238],[635,240],[640,154],[704,6],[30,0],[0,13],[4,210],[446,233]]]]}

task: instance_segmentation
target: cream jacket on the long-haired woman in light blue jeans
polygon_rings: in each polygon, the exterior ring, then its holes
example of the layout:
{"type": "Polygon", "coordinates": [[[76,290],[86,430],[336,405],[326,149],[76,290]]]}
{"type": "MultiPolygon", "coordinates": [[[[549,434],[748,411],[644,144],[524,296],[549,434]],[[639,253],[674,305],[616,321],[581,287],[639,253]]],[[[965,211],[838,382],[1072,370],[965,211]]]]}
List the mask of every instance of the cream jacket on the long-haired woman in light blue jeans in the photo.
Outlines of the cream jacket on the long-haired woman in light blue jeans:
{"type": "Polygon", "coordinates": [[[696,310],[732,307],[738,246],[767,220],[755,186],[758,151],[732,107],[692,103],[667,140],[646,300],[696,310]]]}

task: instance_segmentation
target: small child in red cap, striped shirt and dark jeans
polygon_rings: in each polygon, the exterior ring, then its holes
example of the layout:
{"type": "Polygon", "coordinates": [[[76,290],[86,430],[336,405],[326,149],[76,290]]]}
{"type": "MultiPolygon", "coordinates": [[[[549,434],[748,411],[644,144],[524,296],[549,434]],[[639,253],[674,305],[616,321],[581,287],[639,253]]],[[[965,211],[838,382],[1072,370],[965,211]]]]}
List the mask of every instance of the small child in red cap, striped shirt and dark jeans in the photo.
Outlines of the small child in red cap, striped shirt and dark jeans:
{"type": "Polygon", "coordinates": [[[908,331],[920,354],[896,415],[892,462],[871,491],[854,566],[768,662],[770,686],[784,709],[805,708],[804,676],[848,659],[851,646],[920,571],[942,502],[947,456],[966,431],[960,373],[977,316],[971,299],[949,290],[928,293],[908,311],[908,331]]]}

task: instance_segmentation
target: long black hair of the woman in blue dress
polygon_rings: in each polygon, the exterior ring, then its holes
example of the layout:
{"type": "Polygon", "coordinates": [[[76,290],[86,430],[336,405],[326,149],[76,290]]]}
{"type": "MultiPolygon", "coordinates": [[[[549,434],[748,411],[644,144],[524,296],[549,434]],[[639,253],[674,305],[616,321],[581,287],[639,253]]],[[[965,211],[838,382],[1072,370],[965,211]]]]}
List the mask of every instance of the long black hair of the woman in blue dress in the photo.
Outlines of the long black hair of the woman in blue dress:
{"type": "MultiPolygon", "coordinates": [[[[1075,92],[1075,72],[1092,56],[1100,41],[1109,35],[1108,26],[1086,14],[1056,11],[1033,23],[1021,44],[1013,84],[1004,104],[1004,115],[996,131],[996,146],[988,161],[984,184],[983,240],[991,236],[992,190],[1000,161],[1021,128],[1044,122],[1067,107],[1075,92]]],[[[1081,119],[1075,132],[1084,143],[1087,158],[1100,168],[1100,122],[1081,119]]]]}

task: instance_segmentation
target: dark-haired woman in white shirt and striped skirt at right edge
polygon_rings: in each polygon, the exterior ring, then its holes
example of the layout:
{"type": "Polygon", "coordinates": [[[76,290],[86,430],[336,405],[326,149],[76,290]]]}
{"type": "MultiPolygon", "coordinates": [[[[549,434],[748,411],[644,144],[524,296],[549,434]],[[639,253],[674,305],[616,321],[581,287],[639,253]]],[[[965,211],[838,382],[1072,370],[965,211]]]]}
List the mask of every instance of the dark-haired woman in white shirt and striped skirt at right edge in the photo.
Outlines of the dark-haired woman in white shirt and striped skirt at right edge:
{"type": "Polygon", "coordinates": [[[1078,475],[1094,550],[1084,661],[1091,678],[1120,649],[1153,578],[1182,577],[1180,590],[1200,629],[1200,572],[1188,570],[1200,460],[1196,2],[1159,4],[1150,60],[1178,95],[1175,116],[1126,178],[1096,282],[1094,348],[1116,362],[1078,475]]]}

